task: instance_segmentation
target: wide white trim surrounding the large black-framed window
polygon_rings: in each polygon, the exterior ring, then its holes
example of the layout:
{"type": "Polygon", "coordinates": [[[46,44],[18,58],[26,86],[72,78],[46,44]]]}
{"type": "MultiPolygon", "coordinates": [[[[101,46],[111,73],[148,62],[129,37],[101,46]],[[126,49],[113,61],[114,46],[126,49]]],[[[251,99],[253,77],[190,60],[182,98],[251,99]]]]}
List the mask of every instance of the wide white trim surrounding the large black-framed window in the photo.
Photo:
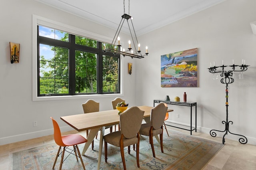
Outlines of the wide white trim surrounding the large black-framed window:
{"type": "Polygon", "coordinates": [[[37,15],[32,15],[32,101],[51,101],[51,100],[65,100],[65,99],[84,99],[84,98],[98,98],[98,97],[121,97],[124,96],[124,59],[120,57],[120,93],[117,94],[95,94],[95,95],[67,95],[67,96],[37,96],[37,26],[42,25],[70,34],[84,36],[86,38],[98,40],[101,42],[111,43],[112,39],[100,34],[82,30],[74,26],[69,26],[48,18],[37,15]]]}

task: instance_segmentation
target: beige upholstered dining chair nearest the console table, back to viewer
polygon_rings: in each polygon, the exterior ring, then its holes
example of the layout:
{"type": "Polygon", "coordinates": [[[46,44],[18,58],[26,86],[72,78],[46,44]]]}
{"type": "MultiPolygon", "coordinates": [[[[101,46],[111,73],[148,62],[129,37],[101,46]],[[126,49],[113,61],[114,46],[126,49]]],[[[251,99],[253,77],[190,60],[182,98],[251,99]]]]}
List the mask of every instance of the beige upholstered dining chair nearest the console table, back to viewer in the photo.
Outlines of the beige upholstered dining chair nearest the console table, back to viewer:
{"type": "Polygon", "coordinates": [[[151,109],[150,113],[150,123],[142,124],[140,127],[140,134],[149,136],[149,142],[151,144],[153,156],[155,155],[153,136],[160,134],[160,146],[161,151],[164,153],[163,149],[163,123],[166,116],[168,107],[164,103],[160,103],[156,107],[151,109]]]}

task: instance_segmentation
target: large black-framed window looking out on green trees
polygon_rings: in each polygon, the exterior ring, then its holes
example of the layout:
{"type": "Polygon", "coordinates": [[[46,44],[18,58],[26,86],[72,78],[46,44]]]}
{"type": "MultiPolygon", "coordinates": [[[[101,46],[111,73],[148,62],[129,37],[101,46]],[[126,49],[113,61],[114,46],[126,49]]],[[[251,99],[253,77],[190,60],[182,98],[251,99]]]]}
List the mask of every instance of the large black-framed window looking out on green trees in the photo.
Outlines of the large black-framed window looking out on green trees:
{"type": "Polygon", "coordinates": [[[102,42],[38,25],[37,96],[120,93],[120,56],[102,48],[102,42]]]}

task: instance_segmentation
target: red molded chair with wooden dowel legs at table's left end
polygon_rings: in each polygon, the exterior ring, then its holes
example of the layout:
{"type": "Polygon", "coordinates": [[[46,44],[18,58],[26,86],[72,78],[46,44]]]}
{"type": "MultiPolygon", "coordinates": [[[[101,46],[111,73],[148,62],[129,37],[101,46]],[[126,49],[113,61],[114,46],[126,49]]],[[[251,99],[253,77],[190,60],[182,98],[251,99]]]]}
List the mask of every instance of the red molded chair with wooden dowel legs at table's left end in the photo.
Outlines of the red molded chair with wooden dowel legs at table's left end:
{"type": "MultiPolygon", "coordinates": [[[[72,150],[72,149],[68,148],[68,146],[73,146],[74,149],[72,151],[74,151],[74,153],[75,153],[74,155],[76,156],[76,160],[78,161],[77,157],[80,158],[82,166],[85,170],[84,162],[82,160],[82,156],[80,154],[80,151],[79,151],[77,145],[87,142],[87,139],[84,138],[80,134],[68,134],[68,135],[61,136],[60,127],[59,127],[58,123],[52,117],[50,117],[50,118],[52,119],[53,128],[54,128],[54,140],[55,140],[56,144],[58,144],[60,146],[52,169],[54,169],[54,166],[56,164],[58,156],[61,155],[61,162],[60,162],[60,170],[61,170],[62,164],[64,162],[64,160],[63,160],[64,153],[65,153],[66,149],[72,150]],[[62,152],[60,152],[61,147],[63,147],[62,152]],[[78,153],[78,156],[77,156],[77,153],[78,153]]],[[[66,152],[69,152],[69,151],[66,151],[66,152]]],[[[69,152],[69,153],[73,154],[72,152],[69,152]]]]}

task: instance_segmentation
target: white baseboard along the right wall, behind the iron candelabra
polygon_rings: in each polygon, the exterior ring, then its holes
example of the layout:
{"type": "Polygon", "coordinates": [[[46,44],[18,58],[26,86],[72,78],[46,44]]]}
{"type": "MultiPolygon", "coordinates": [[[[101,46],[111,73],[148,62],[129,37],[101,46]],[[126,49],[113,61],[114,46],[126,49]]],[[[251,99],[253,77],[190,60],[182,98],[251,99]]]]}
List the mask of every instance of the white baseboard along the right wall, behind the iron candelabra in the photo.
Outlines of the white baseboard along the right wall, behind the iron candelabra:
{"type": "MultiPolygon", "coordinates": [[[[189,124],[185,124],[185,123],[179,123],[179,122],[175,122],[175,121],[165,121],[165,124],[168,125],[168,123],[175,123],[175,124],[180,124],[180,125],[183,125],[183,126],[190,126],[189,124]]],[[[192,125],[192,127],[195,127],[192,125]]],[[[209,134],[210,136],[210,128],[206,128],[206,127],[200,127],[197,125],[196,127],[196,131],[197,132],[200,132],[200,133],[205,133],[205,134],[209,134]]],[[[194,130],[195,131],[195,130],[194,130]]],[[[193,131],[193,132],[194,132],[193,131]]],[[[189,132],[189,131],[188,131],[189,132]]],[[[190,132],[189,132],[190,133],[190,132]]],[[[216,132],[217,136],[216,137],[221,137],[223,138],[223,135],[225,134],[224,132],[216,132]]],[[[236,141],[239,141],[239,138],[241,138],[242,136],[238,136],[238,135],[233,135],[233,134],[229,134],[225,136],[226,139],[231,139],[231,140],[236,140],[236,141]]],[[[247,143],[248,144],[252,144],[252,145],[256,145],[256,138],[254,137],[251,137],[251,136],[245,136],[247,138],[247,143]]],[[[214,138],[214,137],[213,137],[214,138]]]]}

